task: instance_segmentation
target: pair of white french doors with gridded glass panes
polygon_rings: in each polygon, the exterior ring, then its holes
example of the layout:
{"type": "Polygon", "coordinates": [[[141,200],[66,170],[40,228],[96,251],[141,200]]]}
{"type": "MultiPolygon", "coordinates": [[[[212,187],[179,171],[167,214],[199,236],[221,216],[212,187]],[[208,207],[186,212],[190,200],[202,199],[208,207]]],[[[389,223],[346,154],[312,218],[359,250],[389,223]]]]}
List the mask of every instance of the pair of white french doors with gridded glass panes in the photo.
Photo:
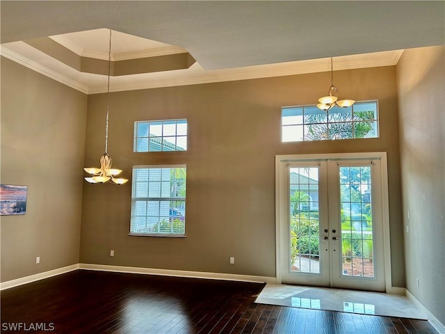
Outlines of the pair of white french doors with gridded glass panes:
{"type": "Polygon", "coordinates": [[[380,158],[279,164],[282,283],[385,291],[380,158]]]}

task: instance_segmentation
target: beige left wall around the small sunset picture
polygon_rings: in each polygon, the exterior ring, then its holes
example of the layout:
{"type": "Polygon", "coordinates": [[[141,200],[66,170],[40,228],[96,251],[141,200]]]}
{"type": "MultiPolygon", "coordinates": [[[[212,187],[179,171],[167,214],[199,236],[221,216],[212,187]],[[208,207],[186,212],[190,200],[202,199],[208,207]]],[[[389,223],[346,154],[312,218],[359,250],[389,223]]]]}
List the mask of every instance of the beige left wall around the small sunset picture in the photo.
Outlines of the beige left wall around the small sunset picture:
{"type": "Polygon", "coordinates": [[[1,58],[1,183],[28,186],[26,215],[1,216],[2,282],[79,262],[86,106],[1,58]]]}

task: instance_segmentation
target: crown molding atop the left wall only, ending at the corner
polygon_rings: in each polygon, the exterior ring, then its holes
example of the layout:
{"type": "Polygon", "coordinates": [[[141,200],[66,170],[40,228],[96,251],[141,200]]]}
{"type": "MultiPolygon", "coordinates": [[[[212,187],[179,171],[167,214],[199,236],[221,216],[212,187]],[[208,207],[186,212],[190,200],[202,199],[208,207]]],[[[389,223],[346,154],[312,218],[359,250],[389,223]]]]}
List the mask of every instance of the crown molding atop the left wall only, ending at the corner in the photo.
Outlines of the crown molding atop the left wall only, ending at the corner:
{"type": "Polygon", "coordinates": [[[60,74],[56,71],[50,70],[49,68],[47,68],[39,63],[36,63],[35,61],[31,61],[31,59],[26,58],[20,54],[17,54],[16,52],[8,49],[7,47],[3,47],[3,45],[0,47],[0,55],[5,58],[10,59],[11,61],[15,61],[16,63],[19,63],[20,65],[24,65],[25,67],[28,67],[29,69],[31,69],[35,72],[43,74],[46,77],[54,79],[54,80],[60,82],[61,84],[64,84],[71,88],[74,88],[75,90],[79,90],[79,92],[81,92],[81,93],[88,94],[88,86],[85,86],[73,79],[65,77],[65,75],[60,74]]]}

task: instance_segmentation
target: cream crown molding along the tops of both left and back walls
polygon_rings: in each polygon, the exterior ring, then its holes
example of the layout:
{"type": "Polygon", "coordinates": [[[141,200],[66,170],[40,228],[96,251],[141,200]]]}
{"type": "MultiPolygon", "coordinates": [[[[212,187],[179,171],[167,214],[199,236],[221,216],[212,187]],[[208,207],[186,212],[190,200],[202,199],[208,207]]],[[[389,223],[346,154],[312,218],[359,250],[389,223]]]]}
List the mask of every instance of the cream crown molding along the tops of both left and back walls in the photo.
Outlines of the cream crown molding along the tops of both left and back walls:
{"type": "MultiPolygon", "coordinates": [[[[166,48],[159,48],[166,49],[166,48]]],[[[99,94],[106,93],[106,87],[94,88],[91,84],[81,84],[74,79],[70,79],[63,74],[54,70],[50,70],[44,65],[40,65],[29,58],[18,54],[15,51],[4,47],[0,48],[0,54],[15,61],[21,65],[29,67],[35,72],[39,72],[51,79],[59,81],[62,84],[70,86],[81,93],[99,94]]],[[[403,50],[385,51],[377,54],[340,56],[334,58],[334,70],[351,70],[366,67],[382,67],[393,66],[398,63],[403,50]]],[[[119,92],[125,90],[142,90],[150,88],[165,88],[174,86],[189,86],[197,84],[211,84],[224,81],[238,81],[249,79],[261,79],[270,77],[284,77],[297,74],[309,74],[316,72],[329,72],[329,58],[310,60],[310,61],[293,61],[289,63],[277,63],[268,65],[255,65],[250,67],[239,67],[226,70],[209,70],[206,71],[195,63],[184,71],[184,77],[175,76],[172,78],[150,77],[151,74],[131,74],[131,80],[119,82],[115,80],[111,92],[119,92]]],[[[130,76],[129,76],[130,77],[130,76]]],[[[88,79],[88,77],[87,77],[88,79]]]]}

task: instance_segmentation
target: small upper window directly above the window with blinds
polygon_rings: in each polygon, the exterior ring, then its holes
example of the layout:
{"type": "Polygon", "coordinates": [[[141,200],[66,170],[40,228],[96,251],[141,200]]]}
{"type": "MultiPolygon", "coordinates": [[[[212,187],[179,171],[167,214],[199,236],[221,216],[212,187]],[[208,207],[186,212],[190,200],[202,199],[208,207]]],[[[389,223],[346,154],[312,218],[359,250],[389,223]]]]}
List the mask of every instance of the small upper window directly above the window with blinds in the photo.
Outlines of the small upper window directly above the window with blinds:
{"type": "Polygon", "coordinates": [[[187,150],[187,120],[145,120],[134,122],[134,152],[187,150]]]}

